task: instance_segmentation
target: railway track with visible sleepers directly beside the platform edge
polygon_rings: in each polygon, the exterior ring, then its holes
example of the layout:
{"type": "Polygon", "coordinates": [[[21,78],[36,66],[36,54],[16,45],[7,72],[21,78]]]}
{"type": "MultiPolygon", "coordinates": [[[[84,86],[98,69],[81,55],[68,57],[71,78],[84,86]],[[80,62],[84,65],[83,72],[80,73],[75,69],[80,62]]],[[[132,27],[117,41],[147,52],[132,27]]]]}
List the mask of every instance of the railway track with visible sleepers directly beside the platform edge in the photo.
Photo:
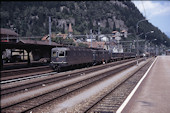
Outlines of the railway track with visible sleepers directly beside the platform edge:
{"type": "Polygon", "coordinates": [[[123,82],[117,84],[117,86],[107,90],[97,98],[94,98],[94,100],[91,100],[86,106],[81,108],[81,112],[116,113],[117,109],[142,78],[152,62],[153,60],[150,60],[147,64],[139,68],[137,72],[134,72],[128,79],[125,79],[123,82]]]}

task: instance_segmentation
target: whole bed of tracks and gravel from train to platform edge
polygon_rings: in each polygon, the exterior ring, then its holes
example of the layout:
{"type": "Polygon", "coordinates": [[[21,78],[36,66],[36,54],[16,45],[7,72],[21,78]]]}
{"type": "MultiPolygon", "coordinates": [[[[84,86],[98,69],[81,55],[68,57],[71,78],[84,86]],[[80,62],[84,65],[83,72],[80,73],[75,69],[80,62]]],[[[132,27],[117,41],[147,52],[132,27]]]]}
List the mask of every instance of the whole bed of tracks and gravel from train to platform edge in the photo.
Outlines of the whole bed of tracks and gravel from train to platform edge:
{"type": "Polygon", "coordinates": [[[132,58],[60,73],[47,66],[2,71],[1,112],[115,113],[156,59],[140,58],[136,65],[132,58]]]}

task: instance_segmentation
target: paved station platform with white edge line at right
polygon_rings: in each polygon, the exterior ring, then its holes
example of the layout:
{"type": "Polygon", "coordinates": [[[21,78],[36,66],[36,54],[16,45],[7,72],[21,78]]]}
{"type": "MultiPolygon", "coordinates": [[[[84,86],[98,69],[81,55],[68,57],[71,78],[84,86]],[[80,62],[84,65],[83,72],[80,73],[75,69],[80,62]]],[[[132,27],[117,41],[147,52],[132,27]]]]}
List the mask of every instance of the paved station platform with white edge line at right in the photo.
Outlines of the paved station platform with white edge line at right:
{"type": "Polygon", "coordinates": [[[116,113],[170,113],[170,56],[158,56],[144,76],[116,113]]]}

